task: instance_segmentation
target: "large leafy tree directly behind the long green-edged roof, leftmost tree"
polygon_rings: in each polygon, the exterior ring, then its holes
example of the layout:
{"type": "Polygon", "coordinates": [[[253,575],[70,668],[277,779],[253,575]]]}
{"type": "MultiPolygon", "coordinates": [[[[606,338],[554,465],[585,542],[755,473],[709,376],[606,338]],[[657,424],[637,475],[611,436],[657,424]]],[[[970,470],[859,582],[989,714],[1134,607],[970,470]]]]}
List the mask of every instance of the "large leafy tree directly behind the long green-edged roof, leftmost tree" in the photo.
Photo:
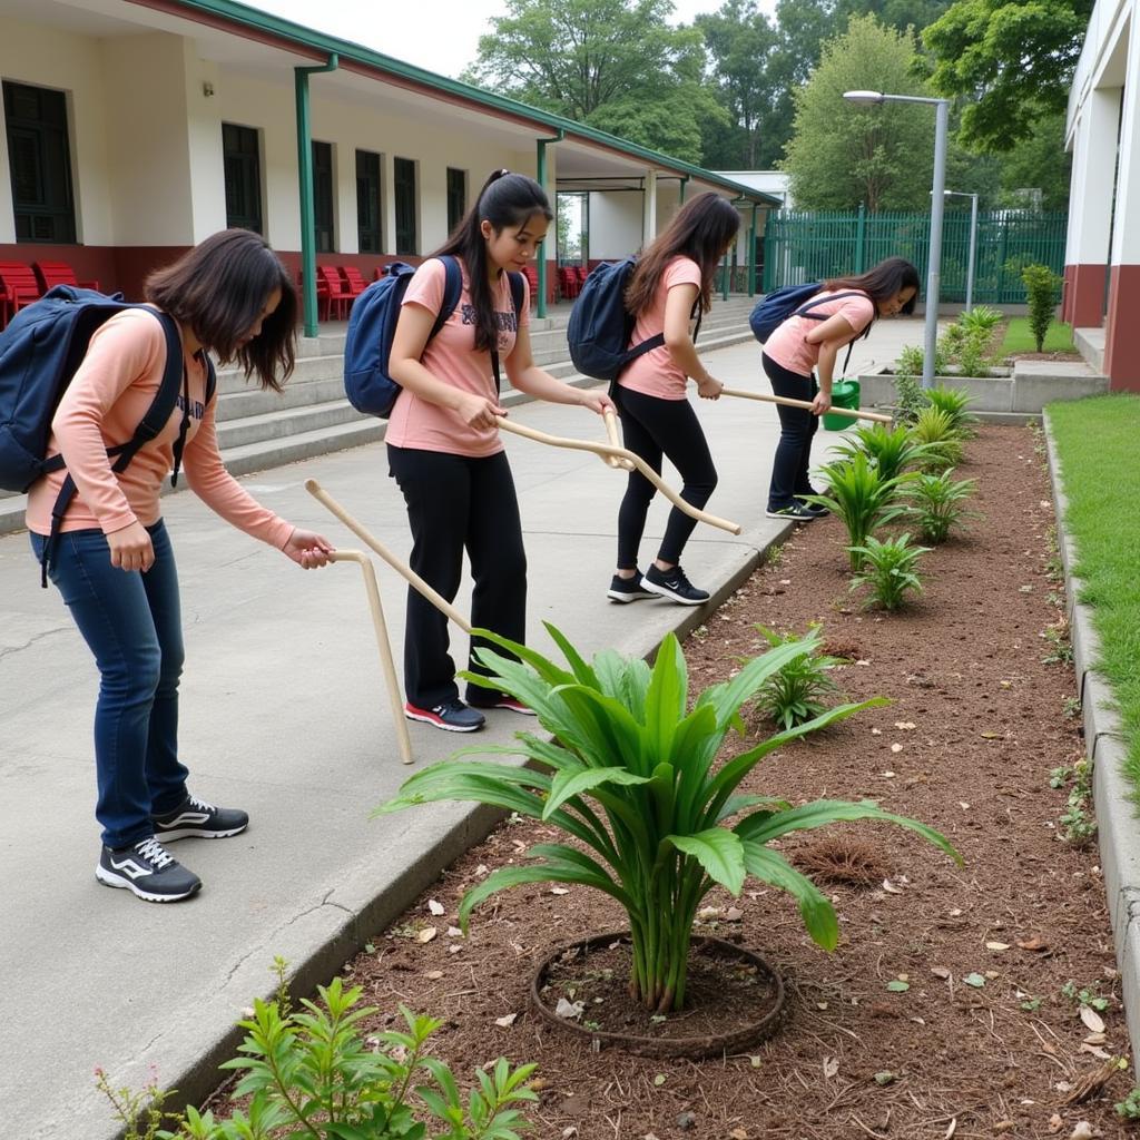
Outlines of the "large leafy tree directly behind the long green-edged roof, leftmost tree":
{"type": "Polygon", "coordinates": [[[630,141],[701,161],[723,121],[705,44],[670,27],[671,0],[506,0],[464,79],[630,141]]]}

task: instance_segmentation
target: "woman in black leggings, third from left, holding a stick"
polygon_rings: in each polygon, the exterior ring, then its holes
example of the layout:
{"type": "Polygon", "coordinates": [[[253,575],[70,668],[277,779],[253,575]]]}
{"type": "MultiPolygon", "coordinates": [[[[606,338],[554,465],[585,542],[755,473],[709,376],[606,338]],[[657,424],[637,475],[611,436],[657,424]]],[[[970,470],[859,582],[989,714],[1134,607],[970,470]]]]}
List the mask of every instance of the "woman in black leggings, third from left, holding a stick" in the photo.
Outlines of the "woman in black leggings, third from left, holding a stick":
{"type": "MultiPolygon", "coordinates": [[[[625,446],[658,474],[662,456],[681,473],[681,497],[703,507],[716,488],[717,474],[705,432],[690,405],[685,386],[697,382],[697,394],[716,400],[724,386],[697,355],[690,325],[707,312],[720,259],[735,241],[740,214],[711,192],[690,198],[637,259],[625,293],[635,318],[632,347],[660,337],[659,347],[637,356],[618,375],[614,401],[621,417],[625,446]]],[[[637,552],[649,505],[657,488],[638,471],[629,473],[618,511],[618,565],[606,591],[613,602],[665,597],[682,605],[708,601],[681,568],[681,555],[693,532],[692,518],[674,507],[657,559],[637,569],[637,552]]]]}

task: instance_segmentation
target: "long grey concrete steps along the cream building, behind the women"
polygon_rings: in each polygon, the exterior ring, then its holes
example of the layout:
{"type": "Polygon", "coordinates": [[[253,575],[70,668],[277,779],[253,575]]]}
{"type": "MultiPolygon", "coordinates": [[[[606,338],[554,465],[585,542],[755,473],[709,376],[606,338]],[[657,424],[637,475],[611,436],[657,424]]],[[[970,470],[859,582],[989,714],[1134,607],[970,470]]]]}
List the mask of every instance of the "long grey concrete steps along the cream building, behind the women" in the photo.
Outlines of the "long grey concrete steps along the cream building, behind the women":
{"type": "MultiPolygon", "coordinates": [[[[701,325],[700,351],[751,340],[748,315],[752,304],[742,295],[730,295],[727,301],[716,298],[701,325]]],[[[565,304],[542,320],[531,319],[535,363],[568,384],[589,386],[596,381],[579,375],[569,359],[569,315],[565,304]]],[[[384,438],[385,422],[360,415],[344,398],[344,323],[329,323],[321,326],[319,336],[300,337],[296,367],[280,394],[250,386],[237,369],[219,370],[218,443],[233,474],[246,475],[384,438]]],[[[512,392],[505,375],[503,381],[505,404],[529,399],[512,392]]],[[[179,481],[182,487],[185,482],[179,481]]],[[[168,481],[165,491],[170,489],[168,481]]],[[[23,530],[25,502],[25,495],[0,491],[0,535],[23,530]]]]}

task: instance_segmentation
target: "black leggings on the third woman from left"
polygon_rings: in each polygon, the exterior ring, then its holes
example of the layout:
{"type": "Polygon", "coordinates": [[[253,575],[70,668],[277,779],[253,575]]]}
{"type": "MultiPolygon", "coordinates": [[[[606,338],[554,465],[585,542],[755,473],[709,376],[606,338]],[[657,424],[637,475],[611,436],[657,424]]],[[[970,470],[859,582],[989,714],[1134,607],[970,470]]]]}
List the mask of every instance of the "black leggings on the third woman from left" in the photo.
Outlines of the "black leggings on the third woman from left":
{"type": "MultiPolygon", "coordinates": [[[[716,490],[716,467],[700,421],[689,400],[661,400],[656,396],[613,389],[621,434],[626,447],[640,455],[658,474],[661,458],[681,472],[684,486],[681,497],[695,507],[708,503],[716,490]]],[[[629,472],[625,497],[618,511],[618,569],[637,569],[637,548],[645,530],[645,516],[657,488],[640,472],[629,472]]],[[[662,562],[681,561],[681,553],[693,532],[697,520],[674,507],[658,551],[662,562]]]]}

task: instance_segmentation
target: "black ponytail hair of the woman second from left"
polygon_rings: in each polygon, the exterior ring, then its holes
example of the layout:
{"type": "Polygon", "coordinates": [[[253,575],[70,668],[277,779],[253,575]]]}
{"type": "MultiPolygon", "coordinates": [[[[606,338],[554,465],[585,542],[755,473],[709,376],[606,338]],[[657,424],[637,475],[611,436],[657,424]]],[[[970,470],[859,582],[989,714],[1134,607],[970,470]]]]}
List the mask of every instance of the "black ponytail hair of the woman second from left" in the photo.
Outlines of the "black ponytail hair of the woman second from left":
{"type": "Polygon", "coordinates": [[[489,351],[498,343],[495,303],[487,276],[487,238],[480,227],[483,221],[489,221],[491,229],[502,234],[507,226],[524,226],[536,213],[547,221],[554,218],[546,192],[538,182],[526,174],[496,170],[483,182],[475,204],[451,230],[451,236],[432,254],[449,253],[459,258],[466,267],[471,303],[475,310],[477,349],[489,351]]]}

